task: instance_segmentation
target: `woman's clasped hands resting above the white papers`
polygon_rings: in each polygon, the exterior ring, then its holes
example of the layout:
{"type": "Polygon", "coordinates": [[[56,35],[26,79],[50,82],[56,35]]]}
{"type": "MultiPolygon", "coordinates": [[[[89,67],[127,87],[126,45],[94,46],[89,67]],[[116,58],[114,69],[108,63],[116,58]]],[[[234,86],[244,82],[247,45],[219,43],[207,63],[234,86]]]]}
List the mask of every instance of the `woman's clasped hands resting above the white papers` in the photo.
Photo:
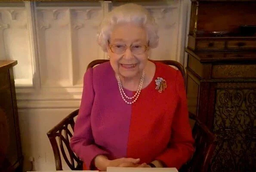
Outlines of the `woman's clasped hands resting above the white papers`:
{"type": "Polygon", "coordinates": [[[104,155],[98,155],[94,160],[94,164],[95,167],[100,171],[106,171],[107,167],[150,167],[146,163],[140,164],[139,161],[140,159],[134,158],[119,158],[115,160],[108,160],[108,158],[104,155]]]}

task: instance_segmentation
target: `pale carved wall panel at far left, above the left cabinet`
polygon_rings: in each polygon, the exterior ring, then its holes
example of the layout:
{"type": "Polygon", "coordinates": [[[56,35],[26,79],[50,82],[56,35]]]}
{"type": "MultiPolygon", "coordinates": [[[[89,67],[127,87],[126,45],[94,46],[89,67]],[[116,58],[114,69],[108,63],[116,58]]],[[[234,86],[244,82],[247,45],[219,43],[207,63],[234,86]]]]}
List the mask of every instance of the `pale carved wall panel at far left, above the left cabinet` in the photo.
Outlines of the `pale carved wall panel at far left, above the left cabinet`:
{"type": "Polygon", "coordinates": [[[17,60],[14,77],[16,83],[32,83],[31,51],[28,14],[24,7],[0,6],[0,59],[17,60]]]}

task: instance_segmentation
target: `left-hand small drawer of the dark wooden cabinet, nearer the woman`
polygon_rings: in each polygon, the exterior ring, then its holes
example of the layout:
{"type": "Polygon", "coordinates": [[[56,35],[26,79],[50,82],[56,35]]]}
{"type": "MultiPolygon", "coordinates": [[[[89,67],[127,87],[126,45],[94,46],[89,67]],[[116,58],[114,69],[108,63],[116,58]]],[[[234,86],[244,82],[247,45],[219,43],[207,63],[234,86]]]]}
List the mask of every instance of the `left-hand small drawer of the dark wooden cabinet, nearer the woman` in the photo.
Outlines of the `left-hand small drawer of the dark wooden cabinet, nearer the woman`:
{"type": "Polygon", "coordinates": [[[219,50],[225,49],[225,41],[198,41],[197,50],[219,50]]]}

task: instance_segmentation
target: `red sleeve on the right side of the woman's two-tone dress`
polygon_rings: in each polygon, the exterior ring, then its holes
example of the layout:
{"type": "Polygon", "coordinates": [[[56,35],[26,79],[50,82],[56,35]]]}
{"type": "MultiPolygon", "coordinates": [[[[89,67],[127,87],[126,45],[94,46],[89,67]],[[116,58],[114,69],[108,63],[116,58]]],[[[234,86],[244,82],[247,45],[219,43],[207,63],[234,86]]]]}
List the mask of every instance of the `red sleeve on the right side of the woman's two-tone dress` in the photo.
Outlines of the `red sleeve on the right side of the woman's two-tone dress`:
{"type": "Polygon", "coordinates": [[[167,167],[179,169],[194,153],[185,86],[180,71],[176,74],[176,92],[178,104],[172,122],[170,146],[156,160],[165,163],[167,167]]]}

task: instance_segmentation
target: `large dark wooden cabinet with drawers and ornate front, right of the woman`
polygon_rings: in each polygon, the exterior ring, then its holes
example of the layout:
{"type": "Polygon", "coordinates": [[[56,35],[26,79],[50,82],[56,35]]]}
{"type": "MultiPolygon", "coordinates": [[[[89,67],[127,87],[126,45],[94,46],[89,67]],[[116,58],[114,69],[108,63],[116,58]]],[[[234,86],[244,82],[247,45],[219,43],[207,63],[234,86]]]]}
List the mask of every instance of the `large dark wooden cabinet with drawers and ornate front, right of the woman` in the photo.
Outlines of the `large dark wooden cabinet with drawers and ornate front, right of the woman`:
{"type": "Polygon", "coordinates": [[[188,107],[216,134],[209,172],[255,172],[256,1],[191,1],[188,107]]]}

